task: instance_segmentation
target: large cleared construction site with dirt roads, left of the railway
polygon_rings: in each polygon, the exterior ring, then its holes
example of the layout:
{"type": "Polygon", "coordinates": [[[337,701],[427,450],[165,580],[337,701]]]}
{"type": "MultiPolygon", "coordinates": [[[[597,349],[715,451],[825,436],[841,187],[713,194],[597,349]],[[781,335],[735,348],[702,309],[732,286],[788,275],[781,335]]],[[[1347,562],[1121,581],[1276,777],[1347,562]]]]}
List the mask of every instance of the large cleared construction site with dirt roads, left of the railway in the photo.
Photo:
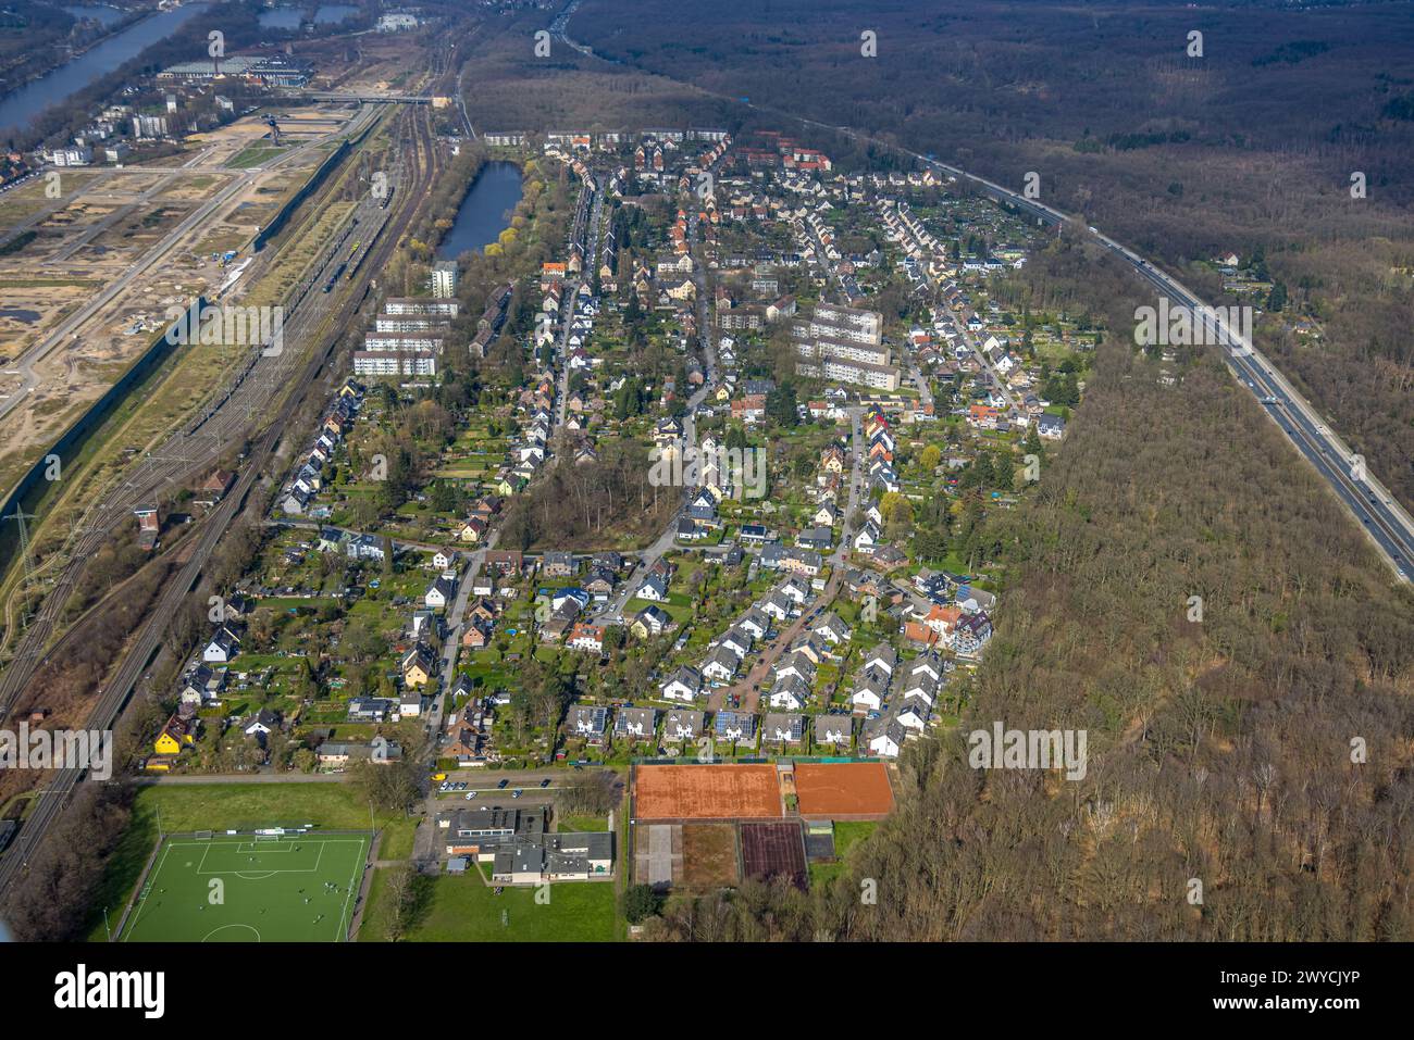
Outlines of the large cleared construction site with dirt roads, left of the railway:
{"type": "MultiPolygon", "coordinates": [[[[356,113],[262,112],[188,138],[160,164],[57,170],[0,196],[6,490],[123,376],[173,308],[240,297],[260,273],[256,235],[356,113]]],[[[222,359],[208,360],[202,370],[218,376],[222,359]]],[[[189,387],[194,397],[205,390],[189,387]]]]}

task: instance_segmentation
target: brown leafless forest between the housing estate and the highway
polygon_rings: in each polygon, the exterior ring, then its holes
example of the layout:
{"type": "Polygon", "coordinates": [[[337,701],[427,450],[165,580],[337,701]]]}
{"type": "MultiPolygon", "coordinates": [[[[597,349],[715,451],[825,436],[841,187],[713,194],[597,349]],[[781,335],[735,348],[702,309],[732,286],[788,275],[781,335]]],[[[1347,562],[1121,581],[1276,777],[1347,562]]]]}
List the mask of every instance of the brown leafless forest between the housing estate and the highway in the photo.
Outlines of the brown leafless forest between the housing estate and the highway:
{"type": "MultiPolygon", "coordinates": [[[[1131,283],[1077,252],[1038,291],[1121,321],[1131,283]]],[[[1414,595],[1216,356],[1169,387],[1109,338],[1038,493],[988,523],[1019,575],[997,636],[850,876],[670,900],[655,937],[1414,937],[1414,595]],[[994,721],[1087,731],[1086,777],[970,769],[994,721]]]]}

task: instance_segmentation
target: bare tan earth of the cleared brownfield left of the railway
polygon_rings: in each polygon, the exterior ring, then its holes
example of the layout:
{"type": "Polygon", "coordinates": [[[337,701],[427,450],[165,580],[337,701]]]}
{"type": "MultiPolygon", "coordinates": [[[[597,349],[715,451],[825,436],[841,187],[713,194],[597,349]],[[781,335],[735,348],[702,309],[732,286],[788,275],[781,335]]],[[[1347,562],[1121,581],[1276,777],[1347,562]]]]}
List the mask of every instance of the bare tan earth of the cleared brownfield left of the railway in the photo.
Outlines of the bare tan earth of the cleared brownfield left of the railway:
{"type": "MultiPolygon", "coordinates": [[[[338,129],[352,110],[281,113],[286,151],[338,129]]],[[[13,362],[54,332],[103,287],[119,281],[171,230],[247,168],[225,165],[269,127],[256,116],[192,137],[175,165],[61,171],[61,198],[41,178],[0,202],[0,240],[17,229],[37,236],[0,257],[0,404],[21,391],[13,362]],[[198,157],[192,167],[182,167],[198,157]]],[[[95,312],[66,343],[35,365],[37,387],[0,418],[0,485],[24,469],[76,415],[120,377],[164,326],[167,308],[212,292],[226,268],[212,254],[246,246],[260,225],[322,161],[310,148],[286,167],[255,172],[245,189],[191,228],[171,250],[95,312]]]]}

